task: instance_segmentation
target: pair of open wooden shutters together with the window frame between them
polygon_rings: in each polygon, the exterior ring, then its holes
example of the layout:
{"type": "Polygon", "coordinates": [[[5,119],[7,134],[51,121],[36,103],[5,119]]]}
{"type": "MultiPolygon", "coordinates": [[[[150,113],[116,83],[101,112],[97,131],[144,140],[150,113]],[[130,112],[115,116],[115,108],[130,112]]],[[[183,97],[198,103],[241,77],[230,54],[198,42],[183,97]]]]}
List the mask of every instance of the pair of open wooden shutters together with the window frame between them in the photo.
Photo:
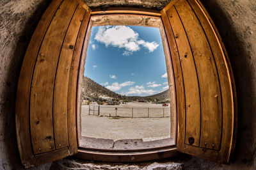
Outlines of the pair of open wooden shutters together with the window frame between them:
{"type": "Polygon", "coordinates": [[[52,1],[35,29],[20,70],[16,129],[24,167],[76,153],[91,160],[135,162],[170,157],[180,151],[227,163],[236,143],[236,122],[236,90],[228,56],[198,0],[174,0],[161,12],[135,8],[92,11],[82,1],[52,1]],[[77,77],[83,74],[89,20],[102,14],[130,15],[131,21],[147,15],[163,22],[166,36],[162,39],[168,42],[164,47],[166,68],[169,81],[172,77],[175,82],[170,132],[174,146],[125,152],[77,146],[81,132],[77,127],[81,123],[76,122],[81,108],[77,95],[81,80],[77,77]]]}

